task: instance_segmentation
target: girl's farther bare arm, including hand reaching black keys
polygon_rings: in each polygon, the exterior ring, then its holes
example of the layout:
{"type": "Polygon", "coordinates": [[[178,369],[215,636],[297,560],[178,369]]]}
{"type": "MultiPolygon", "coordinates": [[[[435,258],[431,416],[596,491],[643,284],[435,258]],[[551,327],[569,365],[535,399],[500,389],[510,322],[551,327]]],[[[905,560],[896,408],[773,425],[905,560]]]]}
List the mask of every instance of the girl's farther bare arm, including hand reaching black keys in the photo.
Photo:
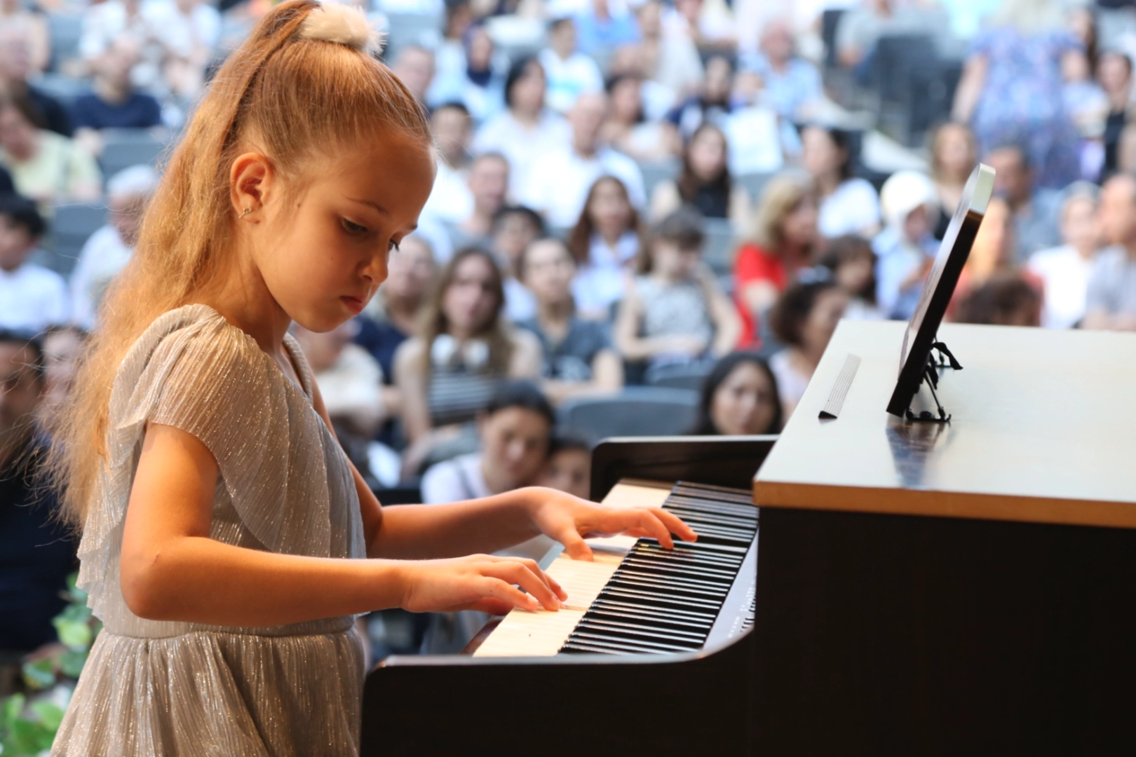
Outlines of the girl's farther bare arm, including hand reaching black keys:
{"type": "MultiPolygon", "coordinates": [[[[312,404],[332,428],[327,409],[314,385],[312,404]]],[[[446,505],[383,507],[362,476],[351,465],[368,557],[427,560],[491,553],[545,533],[577,560],[591,560],[584,535],[626,532],[653,537],[670,548],[675,533],[698,538],[682,520],[658,507],[613,508],[556,489],[528,487],[446,505]]]]}

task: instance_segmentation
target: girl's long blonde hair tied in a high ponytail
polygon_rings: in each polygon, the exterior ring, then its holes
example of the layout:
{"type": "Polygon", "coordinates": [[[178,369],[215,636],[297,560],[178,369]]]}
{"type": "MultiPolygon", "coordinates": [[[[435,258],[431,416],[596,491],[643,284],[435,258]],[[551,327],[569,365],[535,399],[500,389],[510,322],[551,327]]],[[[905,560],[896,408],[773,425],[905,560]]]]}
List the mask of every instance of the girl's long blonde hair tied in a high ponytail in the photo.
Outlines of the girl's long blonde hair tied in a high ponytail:
{"type": "Polygon", "coordinates": [[[254,143],[282,176],[295,177],[320,151],[364,138],[401,134],[432,144],[418,101],[370,54],[377,40],[370,32],[361,43],[359,36],[351,17],[315,0],[289,0],[260,20],[210,83],[169,158],[134,256],[99,310],[75,390],[50,429],[57,444],[47,471],[60,489],[62,516],[76,528],[97,496],[123,358],[158,316],[209,283],[229,250],[233,159],[254,143]],[[317,10],[323,18],[307,25],[317,10]],[[344,25],[346,37],[332,39],[344,25]]]}

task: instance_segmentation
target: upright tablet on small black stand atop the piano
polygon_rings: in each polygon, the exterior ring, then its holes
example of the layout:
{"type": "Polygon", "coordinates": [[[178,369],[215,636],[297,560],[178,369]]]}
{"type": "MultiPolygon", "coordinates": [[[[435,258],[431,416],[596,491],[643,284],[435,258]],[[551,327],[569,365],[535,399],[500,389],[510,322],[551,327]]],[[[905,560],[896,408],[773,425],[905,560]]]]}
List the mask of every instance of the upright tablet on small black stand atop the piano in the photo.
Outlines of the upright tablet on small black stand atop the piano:
{"type": "Polygon", "coordinates": [[[993,192],[994,169],[979,163],[967,180],[962,199],[951,218],[946,234],[943,235],[943,243],[938,247],[935,263],[919,296],[919,304],[908,322],[908,330],[903,334],[900,377],[895,382],[892,399],[887,403],[887,412],[892,415],[911,421],[951,420],[935,394],[935,388],[938,386],[938,370],[941,368],[962,370],[962,365],[946,345],[938,340],[938,325],[943,321],[946,308],[951,303],[959,275],[967,263],[967,256],[970,255],[970,247],[978,235],[978,227],[986,215],[986,207],[993,192]],[[938,360],[932,356],[932,351],[938,353],[938,360]],[[927,388],[935,399],[938,418],[927,410],[918,414],[911,411],[911,401],[924,381],[927,381],[927,388]]]}

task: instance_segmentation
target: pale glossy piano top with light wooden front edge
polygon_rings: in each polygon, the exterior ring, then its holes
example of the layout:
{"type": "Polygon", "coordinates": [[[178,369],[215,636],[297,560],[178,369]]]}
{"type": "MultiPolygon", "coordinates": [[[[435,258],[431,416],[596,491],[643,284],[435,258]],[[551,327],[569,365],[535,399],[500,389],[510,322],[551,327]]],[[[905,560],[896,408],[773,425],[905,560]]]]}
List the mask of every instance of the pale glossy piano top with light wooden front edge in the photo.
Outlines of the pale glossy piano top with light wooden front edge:
{"type": "MultiPolygon", "coordinates": [[[[1136,334],[949,323],[950,423],[886,412],[907,323],[842,321],[754,479],[765,507],[1136,528],[1136,334]],[[846,355],[840,417],[819,420],[846,355]]],[[[914,399],[930,404],[926,387],[914,399]]]]}

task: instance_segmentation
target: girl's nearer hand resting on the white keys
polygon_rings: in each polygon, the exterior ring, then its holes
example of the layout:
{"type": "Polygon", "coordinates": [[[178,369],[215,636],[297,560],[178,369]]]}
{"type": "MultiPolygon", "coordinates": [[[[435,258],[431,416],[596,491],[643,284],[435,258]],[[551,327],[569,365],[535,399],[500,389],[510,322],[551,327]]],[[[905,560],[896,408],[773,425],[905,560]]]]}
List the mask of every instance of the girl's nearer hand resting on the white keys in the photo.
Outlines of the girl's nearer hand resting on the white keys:
{"type": "Polygon", "coordinates": [[[408,561],[403,567],[406,586],[401,606],[412,613],[477,609],[503,615],[513,607],[544,607],[554,612],[568,598],[535,560],[469,555],[408,561]]]}

